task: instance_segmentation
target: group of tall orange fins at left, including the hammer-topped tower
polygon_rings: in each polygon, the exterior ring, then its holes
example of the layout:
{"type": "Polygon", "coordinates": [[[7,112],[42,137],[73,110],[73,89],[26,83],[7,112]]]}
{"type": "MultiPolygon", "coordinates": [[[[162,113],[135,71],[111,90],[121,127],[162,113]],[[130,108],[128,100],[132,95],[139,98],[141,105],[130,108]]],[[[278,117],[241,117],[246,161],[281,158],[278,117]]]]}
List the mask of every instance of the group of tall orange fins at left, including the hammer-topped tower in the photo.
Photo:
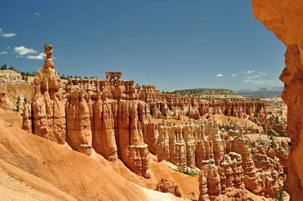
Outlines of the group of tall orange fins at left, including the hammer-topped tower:
{"type": "Polygon", "coordinates": [[[134,81],[121,81],[118,71],[106,72],[106,80],[69,79],[63,84],[54,70],[53,46],[45,45],[44,52],[31,106],[24,107],[23,129],[60,144],[68,142],[88,156],[94,148],[110,161],[119,157],[133,172],[149,178],[141,126],[150,118],[149,107],[137,100],[134,81]]]}

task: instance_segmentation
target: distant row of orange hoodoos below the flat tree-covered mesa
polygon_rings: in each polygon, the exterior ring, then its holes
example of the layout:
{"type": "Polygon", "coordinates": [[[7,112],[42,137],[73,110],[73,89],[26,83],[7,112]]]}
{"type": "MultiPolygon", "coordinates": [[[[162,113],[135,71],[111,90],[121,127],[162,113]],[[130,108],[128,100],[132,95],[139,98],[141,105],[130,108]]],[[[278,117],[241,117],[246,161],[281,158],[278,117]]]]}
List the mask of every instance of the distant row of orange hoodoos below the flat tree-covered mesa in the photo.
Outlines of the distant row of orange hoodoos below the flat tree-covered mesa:
{"type": "Polygon", "coordinates": [[[246,118],[246,115],[255,113],[258,113],[260,118],[266,118],[267,115],[264,102],[258,98],[230,98],[225,101],[211,98],[206,102],[195,96],[163,94],[155,85],[143,85],[143,88],[138,90],[138,98],[150,105],[151,115],[156,119],[160,119],[162,115],[166,117],[177,113],[192,119],[199,119],[205,114],[208,114],[208,117],[223,114],[238,118],[246,118]]]}

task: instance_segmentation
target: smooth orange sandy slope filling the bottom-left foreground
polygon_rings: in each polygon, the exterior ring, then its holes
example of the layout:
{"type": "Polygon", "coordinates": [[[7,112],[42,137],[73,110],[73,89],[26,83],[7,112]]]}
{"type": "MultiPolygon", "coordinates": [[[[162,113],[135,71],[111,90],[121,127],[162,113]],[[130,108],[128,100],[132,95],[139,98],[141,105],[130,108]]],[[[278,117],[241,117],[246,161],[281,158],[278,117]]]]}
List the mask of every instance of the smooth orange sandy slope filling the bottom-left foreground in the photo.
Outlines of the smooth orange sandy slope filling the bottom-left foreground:
{"type": "MultiPolygon", "coordinates": [[[[30,190],[55,200],[179,200],[170,193],[142,189],[98,161],[0,120],[0,178],[25,182],[30,190]]],[[[0,200],[24,196],[45,200],[3,184],[0,200]],[[21,194],[20,194],[21,193],[21,194]],[[27,194],[27,195],[24,195],[27,194]]],[[[18,182],[17,182],[18,183],[18,182]]],[[[16,184],[19,185],[19,184],[16,184]]],[[[36,194],[36,193],[35,193],[36,194]]],[[[25,199],[26,200],[26,199],[25,199]]],[[[46,199],[47,200],[47,199],[46,199]]]]}

